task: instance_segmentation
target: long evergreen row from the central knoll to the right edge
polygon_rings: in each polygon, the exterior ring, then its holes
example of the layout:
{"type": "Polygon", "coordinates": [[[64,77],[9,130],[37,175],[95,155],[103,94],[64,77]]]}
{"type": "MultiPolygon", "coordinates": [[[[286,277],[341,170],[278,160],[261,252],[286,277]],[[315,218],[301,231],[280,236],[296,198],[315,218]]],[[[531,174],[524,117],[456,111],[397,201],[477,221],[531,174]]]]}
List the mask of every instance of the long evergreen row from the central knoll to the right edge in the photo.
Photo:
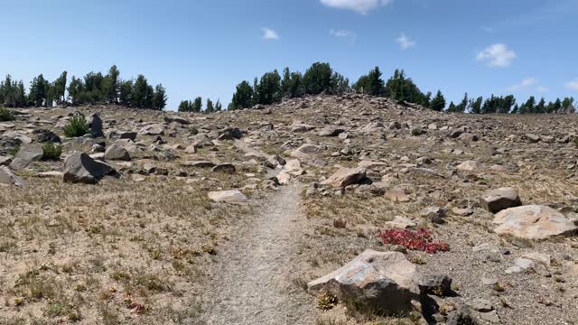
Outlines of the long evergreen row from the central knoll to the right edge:
{"type": "Polygon", "coordinates": [[[379,67],[375,67],[350,86],[349,79],[331,70],[329,63],[320,62],[313,63],[304,75],[285,68],[283,78],[277,70],[274,70],[264,74],[261,79],[255,79],[253,86],[248,81],[242,81],[238,84],[228,109],[248,108],[257,104],[270,105],[280,102],[283,98],[300,98],[322,92],[340,94],[350,90],[451,113],[552,114],[575,111],[574,98],[558,98],[546,104],[544,98],[536,103],[536,98],[531,97],[518,106],[514,95],[505,97],[491,95],[484,100],[482,97],[469,98],[467,93],[459,104],[451,102],[446,109],[446,100],[441,90],[438,90],[435,96],[431,92],[422,92],[411,78],[406,77],[404,70],[395,70],[386,81],[382,79],[379,67]]]}

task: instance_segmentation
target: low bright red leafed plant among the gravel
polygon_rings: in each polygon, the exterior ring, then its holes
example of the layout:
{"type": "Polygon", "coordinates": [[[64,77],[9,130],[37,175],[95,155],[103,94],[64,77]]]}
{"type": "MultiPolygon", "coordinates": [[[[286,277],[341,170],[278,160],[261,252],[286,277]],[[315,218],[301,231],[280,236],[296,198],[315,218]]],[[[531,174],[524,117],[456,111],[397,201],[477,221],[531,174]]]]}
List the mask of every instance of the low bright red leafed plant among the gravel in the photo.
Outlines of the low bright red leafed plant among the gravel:
{"type": "Polygon", "coordinates": [[[406,246],[407,249],[421,250],[428,254],[447,252],[450,246],[442,242],[434,242],[432,233],[420,228],[417,230],[384,230],[379,233],[384,244],[406,246]]]}

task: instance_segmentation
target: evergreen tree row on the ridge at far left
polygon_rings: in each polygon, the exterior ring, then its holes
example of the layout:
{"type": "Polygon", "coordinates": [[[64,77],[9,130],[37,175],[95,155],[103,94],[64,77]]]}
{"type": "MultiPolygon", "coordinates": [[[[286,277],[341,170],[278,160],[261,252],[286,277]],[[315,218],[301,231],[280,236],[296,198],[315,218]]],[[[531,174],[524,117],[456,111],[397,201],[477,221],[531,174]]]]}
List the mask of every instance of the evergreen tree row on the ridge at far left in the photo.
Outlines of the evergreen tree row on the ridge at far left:
{"type": "Polygon", "coordinates": [[[67,71],[49,81],[43,75],[35,77],[28,94],[23,81],[10,75],[0,83],[0,105],[5,107],[52,107],[54,104],[72,105],[110,103],[125,107],[162,110],[166,107],[166,90],[159,84],[153,88],[143,75],[136,79],[119,79],[120,71],[112,66],[107,75],[89,72],[82,79],[72,77],[67,88],[67,71]],[[67,94],[68,90],[68,94],[67,94]]]}

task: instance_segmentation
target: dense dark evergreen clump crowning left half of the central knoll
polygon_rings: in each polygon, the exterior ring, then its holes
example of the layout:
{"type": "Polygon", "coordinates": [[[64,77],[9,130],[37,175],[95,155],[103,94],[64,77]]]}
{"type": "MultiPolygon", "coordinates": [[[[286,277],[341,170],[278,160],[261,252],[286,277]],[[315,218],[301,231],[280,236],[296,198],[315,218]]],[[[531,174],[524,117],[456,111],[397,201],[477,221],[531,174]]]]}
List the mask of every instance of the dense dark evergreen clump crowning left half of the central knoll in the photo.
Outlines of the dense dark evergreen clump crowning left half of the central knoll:
{"type": "Polygon", "coordinates": [[[255,78],[253,86],[246,80],[238,84],[228,106],[229,110],[253,107],[258,104],[270,105],[283,98],[300,98],[304,95],[341,94],[350,91],[350,80],[331,69],[329,63],[316,62],[302,74],[283,71],[283,78],[277,70],[266,72],[261,79],[255,78]]]}

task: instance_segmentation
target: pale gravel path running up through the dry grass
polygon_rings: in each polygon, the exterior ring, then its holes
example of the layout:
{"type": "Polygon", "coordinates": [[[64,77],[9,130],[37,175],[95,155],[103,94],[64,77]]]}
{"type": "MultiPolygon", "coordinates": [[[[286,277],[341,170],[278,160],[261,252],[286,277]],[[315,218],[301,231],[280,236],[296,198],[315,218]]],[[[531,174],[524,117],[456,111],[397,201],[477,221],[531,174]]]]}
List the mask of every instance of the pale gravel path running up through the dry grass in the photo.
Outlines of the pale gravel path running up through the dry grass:
{"type": "Polygon", "coordinates": [[[203,317],[208,324],[312,324],[314,298],[293,281],[306,228],[299,187],[272,193],[219,253],[203,317]]]}

